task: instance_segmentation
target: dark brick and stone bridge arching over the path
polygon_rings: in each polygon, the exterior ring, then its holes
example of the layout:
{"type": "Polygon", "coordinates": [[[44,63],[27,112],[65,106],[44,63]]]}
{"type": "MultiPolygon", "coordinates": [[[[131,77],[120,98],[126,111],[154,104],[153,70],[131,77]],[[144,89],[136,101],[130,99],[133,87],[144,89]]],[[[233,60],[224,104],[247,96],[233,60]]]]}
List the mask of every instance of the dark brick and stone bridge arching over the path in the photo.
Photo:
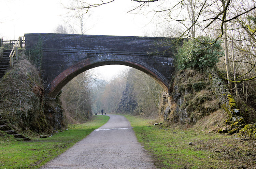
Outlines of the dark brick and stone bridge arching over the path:
{"type": "Polygon", "coordinates": [[[174,69],[171,38],[73,34],[25,34],[26,50],[41,45],[41,75],[45,92],[56,97],[78,74],[102,65],[122,64],[152,76],[168,91],[174,69]]]}

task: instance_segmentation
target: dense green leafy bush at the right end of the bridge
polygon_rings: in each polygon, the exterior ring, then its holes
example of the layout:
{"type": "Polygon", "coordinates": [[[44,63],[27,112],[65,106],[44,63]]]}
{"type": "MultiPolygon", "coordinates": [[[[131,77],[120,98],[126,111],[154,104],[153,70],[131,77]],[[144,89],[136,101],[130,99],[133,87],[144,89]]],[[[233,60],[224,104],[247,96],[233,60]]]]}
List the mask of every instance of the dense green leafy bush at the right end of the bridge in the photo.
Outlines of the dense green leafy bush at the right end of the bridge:
{"type": "Polygon", "coordinates": [[[224,51],[221,46],[221,41],[212,43],[213,39],[208,37],[199,37],[196,39],[190,39],[184,41],[183,46],[178,49],[176,55],[176,65],[180,70],[183,69],[197,69],[204,70],[207,67],[213,67],[219,58],[224,56],[224,51]]]}

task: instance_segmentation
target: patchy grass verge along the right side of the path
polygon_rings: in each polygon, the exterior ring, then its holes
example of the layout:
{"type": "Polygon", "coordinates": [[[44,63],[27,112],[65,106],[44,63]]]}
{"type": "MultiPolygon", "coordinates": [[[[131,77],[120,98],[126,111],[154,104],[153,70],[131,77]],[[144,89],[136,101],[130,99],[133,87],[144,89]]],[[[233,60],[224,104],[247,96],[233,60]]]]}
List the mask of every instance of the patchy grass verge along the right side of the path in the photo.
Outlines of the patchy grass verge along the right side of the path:
{"type": "Polygon", "coordinates": [[[149,125],[150,120],[125,116],[159,168],[256,168],[255,140],[193,128],[159,128],[149,125]]]}

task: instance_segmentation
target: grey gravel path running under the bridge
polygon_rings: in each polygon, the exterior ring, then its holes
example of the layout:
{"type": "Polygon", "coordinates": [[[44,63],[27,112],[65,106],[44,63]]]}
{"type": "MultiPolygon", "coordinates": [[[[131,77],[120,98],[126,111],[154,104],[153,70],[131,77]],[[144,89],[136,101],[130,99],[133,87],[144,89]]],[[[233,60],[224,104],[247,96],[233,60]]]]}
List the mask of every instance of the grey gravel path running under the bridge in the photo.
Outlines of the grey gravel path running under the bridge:
{"type": "Polygon", "coordinates": [[[124,116],[109,116],[105,125],[42,168],[155,168],[130,122],[124,116]]]}

